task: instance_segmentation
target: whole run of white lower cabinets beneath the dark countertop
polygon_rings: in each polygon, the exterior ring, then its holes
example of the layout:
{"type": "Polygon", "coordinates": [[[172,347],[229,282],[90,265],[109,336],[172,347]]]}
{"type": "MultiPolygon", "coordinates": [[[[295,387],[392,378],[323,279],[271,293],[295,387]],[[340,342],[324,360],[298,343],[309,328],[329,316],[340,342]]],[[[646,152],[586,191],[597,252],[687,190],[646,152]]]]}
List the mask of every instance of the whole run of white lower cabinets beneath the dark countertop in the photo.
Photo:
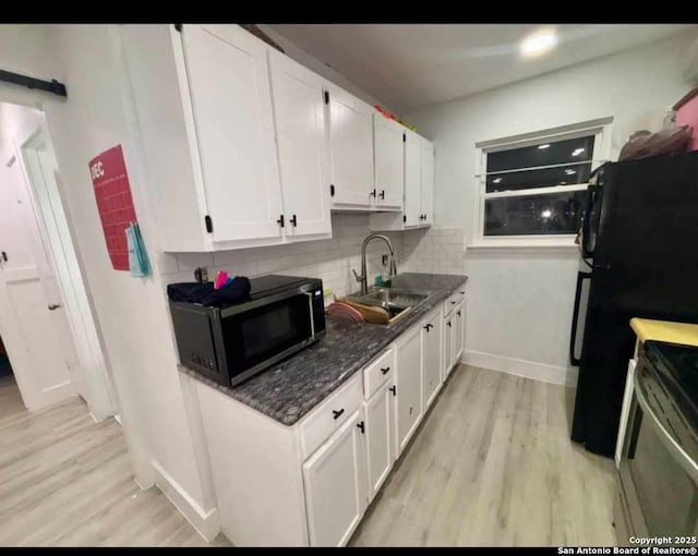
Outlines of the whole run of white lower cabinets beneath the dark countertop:
{"type": "Polygon", "coordinates": [[[216,519],[233,544],[348,543],[462,351],[462,295],[422,317],[290,426],[191,379],[216,519]]]}

